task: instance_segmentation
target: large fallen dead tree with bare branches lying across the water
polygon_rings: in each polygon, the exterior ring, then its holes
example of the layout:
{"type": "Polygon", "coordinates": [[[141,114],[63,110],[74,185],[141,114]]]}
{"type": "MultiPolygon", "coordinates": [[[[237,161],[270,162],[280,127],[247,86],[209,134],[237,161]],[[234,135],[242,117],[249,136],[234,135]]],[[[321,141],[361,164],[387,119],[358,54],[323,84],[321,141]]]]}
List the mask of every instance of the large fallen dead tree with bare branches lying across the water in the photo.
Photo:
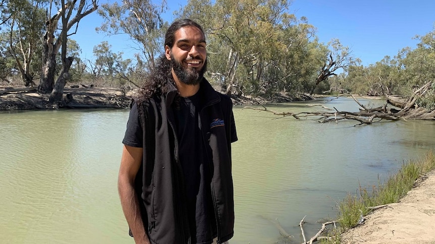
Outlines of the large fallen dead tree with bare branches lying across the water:
{"type": "MultiPolygon", "coordinates": [[[[403,103],[399,103],[397,100],[395,100],[395,102],[392,102],[393,100],[390,98],[388,99],[389,101],[388,103],[386,103],[384,106],[377,107],[377,108],[367,108],[363,104],[361,104],[358,101],[358,99],[356,99],[352,94],[350,94],[346,90],[341,90],[344,91],[345,93],[343,93],[339,97],[342,96],[352,97],[353,100],[361,107],[359,112],[338,111],[336,108],[334,108],[335,111],[332,111],[333,109],[323,105],[311,105],[311,106],[321,106],[322,108],[330,111],[312,111],[312,112],[299,112],[299,113],[276,112],[267,109],[264,106],[262,106],[262,108],[245,107],[243,109],[266,111],[269,113],[273,113],[275,115],[280,115],[282,117],[292,116],[295,119],[313,118],[312,120],[320,123],[333,122],[333,121],[338,122],[340,120],[355,120],[359,122],[359,124],[357,125],[363,125],[363,124],[372,124],[374,122],[379,122],[382,120],[407,120],[407,119],[435,120],[435,109],[429,110],[426,108],[418,107],[416,104],[417,100],[420,97],[424,96],[428,92],[428,90],[431,89],[432,85],[433,82],[426,83],[424,86],[414,91],[413,96],[411,96],[408,100],[406,100],[403,103]],[[396,104],[395,106],[400,109],[389,106],[392,105],[393,103],[396,104]]],[[[331,88],[331,90],[333,89],[335,88],[331,88]]],[[[335,89],[335,90],[339,90],[339,89],[335,89]]]]}

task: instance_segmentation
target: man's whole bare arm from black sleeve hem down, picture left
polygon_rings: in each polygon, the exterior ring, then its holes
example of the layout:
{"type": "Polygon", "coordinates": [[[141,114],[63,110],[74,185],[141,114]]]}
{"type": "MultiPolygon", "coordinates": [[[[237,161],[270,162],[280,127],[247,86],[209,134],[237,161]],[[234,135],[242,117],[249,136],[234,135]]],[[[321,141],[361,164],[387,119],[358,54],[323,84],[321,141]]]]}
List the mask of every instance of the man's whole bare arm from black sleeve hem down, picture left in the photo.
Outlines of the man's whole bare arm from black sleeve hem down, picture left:
{"type": "Polygon", "coordinates": [[[149,244],[134,190],[134,179],[142,164],[142,147],[124,145],[118,176],[118,192],[127,223],[136,243],[149,244]]]}

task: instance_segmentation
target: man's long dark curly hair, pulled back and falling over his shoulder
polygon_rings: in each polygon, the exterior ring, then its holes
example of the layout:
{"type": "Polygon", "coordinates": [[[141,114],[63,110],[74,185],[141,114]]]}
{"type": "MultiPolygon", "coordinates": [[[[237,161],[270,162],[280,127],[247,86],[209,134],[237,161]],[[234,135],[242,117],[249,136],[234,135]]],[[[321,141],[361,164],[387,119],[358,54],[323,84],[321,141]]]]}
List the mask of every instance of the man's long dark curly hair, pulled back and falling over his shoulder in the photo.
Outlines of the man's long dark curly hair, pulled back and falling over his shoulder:
{"type": "MultiPolygon", "coordinates": [[[[186,26],[194,26],[198,28],[205,37],[202,27],[190,19],[182,19],[175,21],[168,28],[165,35],[165,47],[173,47],[175,42],[175,32],[186,26]]],[[[171,73],[171,61],[168,60],[165,54],[162,54],[156,60],[155,67],[145,77],[144,85],[139,90],[139,101],[147,100],[153,96],[159,96],[169,92],[168,82],[174,84],[174,78],[171,73]]]]}

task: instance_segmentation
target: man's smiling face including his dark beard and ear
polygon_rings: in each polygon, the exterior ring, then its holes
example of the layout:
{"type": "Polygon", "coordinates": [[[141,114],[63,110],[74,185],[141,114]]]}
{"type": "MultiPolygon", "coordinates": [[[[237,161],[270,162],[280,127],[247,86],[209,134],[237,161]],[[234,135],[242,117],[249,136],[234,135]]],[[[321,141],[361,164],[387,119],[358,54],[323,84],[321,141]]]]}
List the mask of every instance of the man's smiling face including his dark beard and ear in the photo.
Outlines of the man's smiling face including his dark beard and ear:
{"type": "Polygon", "coordinates": [[[175,75],[186,85],[199,84],[207,66],[204,35],[198,28],[187,26],[174,36],[174,46],[166,46],[165,51],[175,75]]]}

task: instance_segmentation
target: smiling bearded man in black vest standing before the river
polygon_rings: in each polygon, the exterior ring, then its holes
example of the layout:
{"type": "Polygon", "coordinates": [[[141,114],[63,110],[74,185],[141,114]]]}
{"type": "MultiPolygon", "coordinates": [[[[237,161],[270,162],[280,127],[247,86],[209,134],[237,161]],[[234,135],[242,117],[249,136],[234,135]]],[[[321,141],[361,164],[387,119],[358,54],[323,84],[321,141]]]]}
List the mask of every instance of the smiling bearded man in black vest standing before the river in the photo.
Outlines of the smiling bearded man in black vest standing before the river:
{"type": "Polygon", "coordinates": [[[136,243],[226,243],[234,234],[231,99],[203,77],[205,35],[174,22],[132,106],[118,189],[136,243]]]}

